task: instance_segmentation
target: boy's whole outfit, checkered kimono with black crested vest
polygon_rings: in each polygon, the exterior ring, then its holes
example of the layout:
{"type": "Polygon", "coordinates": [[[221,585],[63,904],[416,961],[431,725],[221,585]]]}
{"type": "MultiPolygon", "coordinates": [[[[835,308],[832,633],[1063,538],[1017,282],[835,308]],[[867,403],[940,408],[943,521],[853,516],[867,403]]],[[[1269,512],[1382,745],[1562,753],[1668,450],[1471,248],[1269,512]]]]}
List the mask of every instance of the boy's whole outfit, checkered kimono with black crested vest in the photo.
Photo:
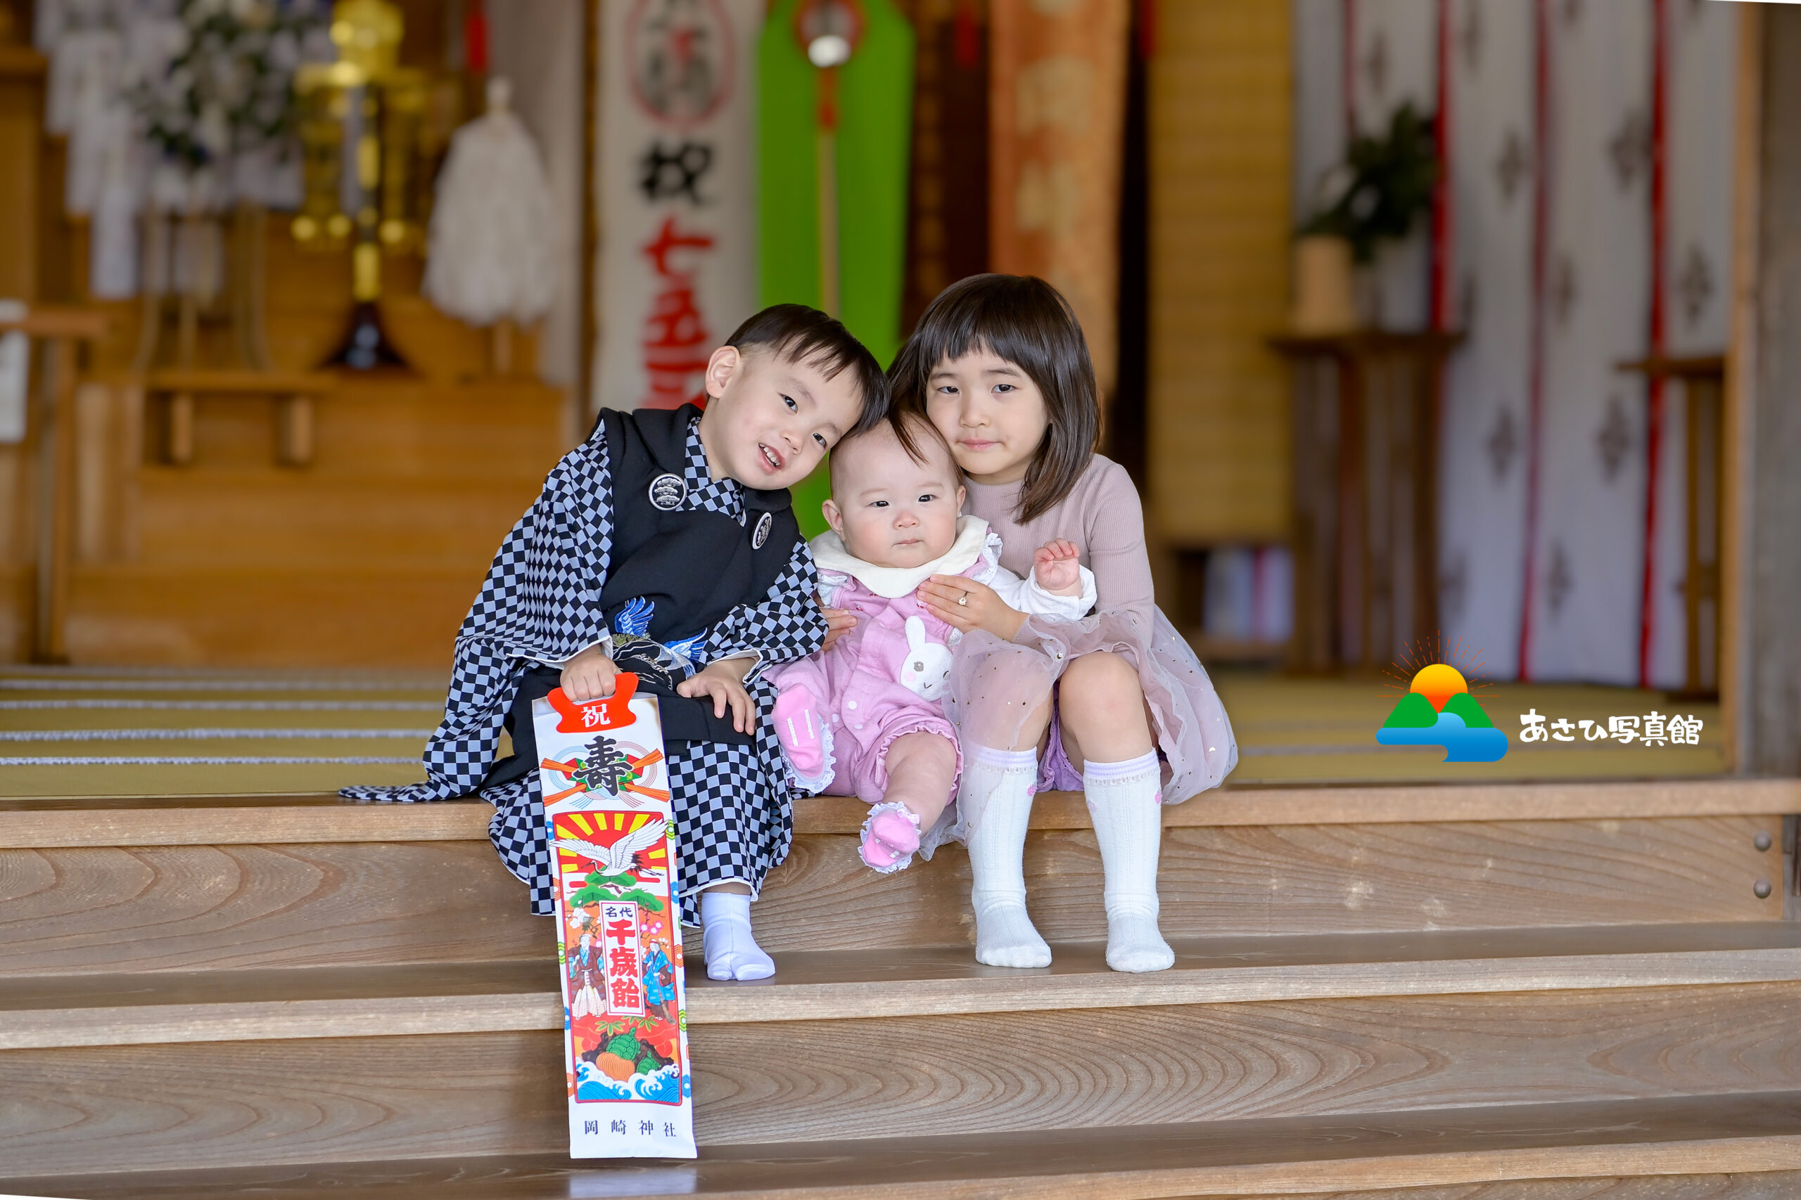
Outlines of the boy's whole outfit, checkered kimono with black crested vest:
{"type": "MultiPolygon", "coordinates": [[[[701,887],[742,880],[756,889],[787,856],[792,792],[767,716],[774,689],[762,667],[819,648],[825,619],[816,590],[787,493],[713,480],[699,408],[605,414],[551,470],[463,619],[445,718],[425,747],[425,783],[344,788],[344,795],[493,802],[488,837],[529,885],[531,910],[548,916],[553,874],[538,772],[529,763],[522,772],[493,770],[520,684],[529,675],[548,691],[546,667],[609,637],[627,658],[621,666],[652,678],[666,669],[665,684],[690,667],[756,655],[746,678],[758,707],[755,736],[672,739],[668,748],[683,919],[697,923],[701,887]]],[[[670,712],[699,707],[663,703],[670,712]]],[[[520,721],[513,723],[519,732],[520,721]]],[[[524,741],[519,750],[529,754],[524,741]]]]}

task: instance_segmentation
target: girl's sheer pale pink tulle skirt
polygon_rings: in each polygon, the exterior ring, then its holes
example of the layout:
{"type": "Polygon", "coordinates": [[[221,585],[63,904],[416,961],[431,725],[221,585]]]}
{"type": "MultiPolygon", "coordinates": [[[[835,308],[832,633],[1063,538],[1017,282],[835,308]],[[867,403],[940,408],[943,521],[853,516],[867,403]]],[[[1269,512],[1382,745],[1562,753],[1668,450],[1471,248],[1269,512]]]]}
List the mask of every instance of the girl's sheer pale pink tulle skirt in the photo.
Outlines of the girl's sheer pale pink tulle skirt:
{"type": "MultiPolygon", "coordinates": [[[[1153,608],[1151,628],[1129,610],[1108,608],[1081,621],[1027,617],[1010,642],[982,630],[965,633],[953,651],[944,702],[965,752],[1018,743],[1070,662],[1095,651],[1120,655],[1138,669],[1163,759],[1163,802],[1217,788],[1237,766],[1232,721],[1201,660],[1160,608],[1153,608]]],[[[929,853],[944,840],[967,842],[985,801],[965,786],[922,847],[929,853]]]]}

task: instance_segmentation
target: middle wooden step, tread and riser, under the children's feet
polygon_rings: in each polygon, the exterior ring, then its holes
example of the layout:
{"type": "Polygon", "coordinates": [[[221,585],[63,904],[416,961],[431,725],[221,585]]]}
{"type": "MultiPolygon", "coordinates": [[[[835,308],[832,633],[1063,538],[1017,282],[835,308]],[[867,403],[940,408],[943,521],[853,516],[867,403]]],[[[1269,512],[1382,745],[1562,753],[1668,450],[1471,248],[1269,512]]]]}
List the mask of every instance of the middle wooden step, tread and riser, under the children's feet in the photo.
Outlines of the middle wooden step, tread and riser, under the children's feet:
{"type": "MultiPolygon", "coordinates": [[[[706,1144],[1734,1094],[1801,1083],[1801,930],[1181,945],[1172,972],[783,955],[692,981],[706,1144]],[[1733,982],[1738,981],[1738,982],[1733,982]],[[1754,982],[1769,981],[1769,982],[1754,982]]],[[[549,963],[7,981],[34,1173],[555,1150],[549,963]]]]}

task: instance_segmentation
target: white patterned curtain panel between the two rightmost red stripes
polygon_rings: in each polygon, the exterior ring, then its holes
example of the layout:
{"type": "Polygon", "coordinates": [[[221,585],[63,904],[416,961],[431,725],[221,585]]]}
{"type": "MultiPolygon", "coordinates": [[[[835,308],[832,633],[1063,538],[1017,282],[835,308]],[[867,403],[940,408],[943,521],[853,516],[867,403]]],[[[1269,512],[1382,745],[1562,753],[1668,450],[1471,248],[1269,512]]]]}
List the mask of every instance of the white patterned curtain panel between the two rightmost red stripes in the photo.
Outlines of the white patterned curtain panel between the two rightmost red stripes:
{"type": "Polygon", "coordinates": [[[1652,2],[1547,4],[1525,669],[1639,682],[1650,349],[1652,2]],[[1534,444],[1536,443],[1536,444],[1534,444]]]}

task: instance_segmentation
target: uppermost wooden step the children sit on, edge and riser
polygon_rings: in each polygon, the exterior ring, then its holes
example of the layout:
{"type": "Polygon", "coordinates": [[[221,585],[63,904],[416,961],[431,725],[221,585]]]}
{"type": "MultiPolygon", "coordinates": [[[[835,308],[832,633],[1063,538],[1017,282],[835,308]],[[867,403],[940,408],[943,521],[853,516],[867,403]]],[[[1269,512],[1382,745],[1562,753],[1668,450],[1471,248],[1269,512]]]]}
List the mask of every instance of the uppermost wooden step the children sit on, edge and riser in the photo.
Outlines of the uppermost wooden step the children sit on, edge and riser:
{"type": "MultiPolygon", "coordinates": [[[[1358,820],[1367,808],[1439,808],[1434,790],[1389,788],[1340,804],[1342,824],[1282,824],[1284,808],[1299,808],[1295,792],[1306,790],[1223,792],[1217,802],[1165,813],[1167,936],[1783,916],[1776,815],[1358,820]],[[1403,793],[1414,808],[1380,792],[1403,793]],[[1198,824],[1214,813],[1273,822],[1198,824]]],[[[1527,793],[1513,811],[1542,811],[1534,788],[1513,792],[1527,793]]],[[[1704,810],[1733,795],[1700,784],[1688,792],[1704,810]]],[[[1443,808],[1466,811],[1459,799],[1443,797],[1443,808]]],[[[1734,802],[1794,799],[1747,786],[1734,802]]],[[[490,811],[463,801],[346,804],[326,795],[0,801],[0,847],[11,847],[0,849],[0,975],[548,961],[551,930],[526,912],[524,887],[488,846],[490,811]],[[122,943],[121,928],[131,930],[122,943]]],[[[946,847],[929,864],[877,876],[855,856],[859,811],[837,799],[796,806],[789,862],[756,909],[764,945],[967,948],[967,855],[946,847]]],[[[1315,802],[1302,815],[1320,820],[1333,810],[1315,802]]],[[[1077,795],[1048,793],[1034,813],[1030,905],[1054,941],[1106,937],[1100,858],[1086,826],[1077,795]]]]}

